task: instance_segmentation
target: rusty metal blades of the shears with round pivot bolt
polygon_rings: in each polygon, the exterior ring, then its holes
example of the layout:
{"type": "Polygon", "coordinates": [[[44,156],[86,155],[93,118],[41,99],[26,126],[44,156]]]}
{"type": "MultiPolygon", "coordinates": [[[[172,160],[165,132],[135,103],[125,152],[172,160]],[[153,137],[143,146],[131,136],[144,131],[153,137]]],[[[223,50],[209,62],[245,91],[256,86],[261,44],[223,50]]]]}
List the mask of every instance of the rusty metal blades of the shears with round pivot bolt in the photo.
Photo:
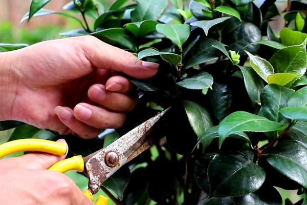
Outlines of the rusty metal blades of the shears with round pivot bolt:
{"type": "Polygon", "coordinates": [[[168,110],[151,117],[111,145],[84,158],[85,174],[90,179],[89,189],[93,194],[114,172],[156,142],[156,138],[151,135],[155,135],[152,133],[153,126],[168,110]]]}

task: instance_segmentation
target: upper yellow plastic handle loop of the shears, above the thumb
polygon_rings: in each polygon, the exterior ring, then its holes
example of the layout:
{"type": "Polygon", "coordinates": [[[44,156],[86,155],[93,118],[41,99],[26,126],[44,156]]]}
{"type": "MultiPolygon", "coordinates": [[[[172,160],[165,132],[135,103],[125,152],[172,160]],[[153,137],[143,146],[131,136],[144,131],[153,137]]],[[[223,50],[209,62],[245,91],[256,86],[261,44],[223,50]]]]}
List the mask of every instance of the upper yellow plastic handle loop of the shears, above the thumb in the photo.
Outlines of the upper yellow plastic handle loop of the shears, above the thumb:
{"type": "Polygon", "coordinates": [[[46,139],[17,139],[0,145],[0,158],[16,152],[30,151],[63,156],[66,153],[66,145],[46,139]]]}

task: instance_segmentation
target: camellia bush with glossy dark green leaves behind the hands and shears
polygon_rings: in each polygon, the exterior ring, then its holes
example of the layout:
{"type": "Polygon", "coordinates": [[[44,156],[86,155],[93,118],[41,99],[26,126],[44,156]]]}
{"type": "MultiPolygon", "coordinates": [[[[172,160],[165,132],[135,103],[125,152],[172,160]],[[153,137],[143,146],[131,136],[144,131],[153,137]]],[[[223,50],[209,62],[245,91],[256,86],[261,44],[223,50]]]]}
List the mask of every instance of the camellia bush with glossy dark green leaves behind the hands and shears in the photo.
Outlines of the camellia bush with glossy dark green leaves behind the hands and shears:
{"type": "MultiPolygon", "coordinates": [[[[276,187],[307,204],[306,4],[289,0],[277,37],[274,0],[74,0],[60,12],[44,9],[49,2],[33,0],[23,21],[70,17],[80,29],[62,36],[93,35],[160,64],[150,79],[129,77],[140,103],[123,128],[65,137],[71,154],[85,156],[172,107],[165,137],[104,183],[116,204],[293,204],[276,187]]],[[[13,127],[9,140],[59,137],[0,124],[13,127]]]]}

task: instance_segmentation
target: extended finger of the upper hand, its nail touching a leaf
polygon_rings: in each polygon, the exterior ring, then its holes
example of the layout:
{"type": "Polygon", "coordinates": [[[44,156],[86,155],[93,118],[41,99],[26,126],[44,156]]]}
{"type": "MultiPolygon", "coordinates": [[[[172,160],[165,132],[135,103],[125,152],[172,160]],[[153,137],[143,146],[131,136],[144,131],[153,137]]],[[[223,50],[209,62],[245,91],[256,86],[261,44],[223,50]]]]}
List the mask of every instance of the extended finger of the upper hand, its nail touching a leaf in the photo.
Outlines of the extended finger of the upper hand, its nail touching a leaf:
{"type": "Polygon", "coordinates": [[[83,51],[91,63],[101,69],[122,72],[136,78],[148,78],[158,72],[159,65],[138,61],[133,54],[108,45],[96,37],[82,36],[85,42],[83,51]]]}

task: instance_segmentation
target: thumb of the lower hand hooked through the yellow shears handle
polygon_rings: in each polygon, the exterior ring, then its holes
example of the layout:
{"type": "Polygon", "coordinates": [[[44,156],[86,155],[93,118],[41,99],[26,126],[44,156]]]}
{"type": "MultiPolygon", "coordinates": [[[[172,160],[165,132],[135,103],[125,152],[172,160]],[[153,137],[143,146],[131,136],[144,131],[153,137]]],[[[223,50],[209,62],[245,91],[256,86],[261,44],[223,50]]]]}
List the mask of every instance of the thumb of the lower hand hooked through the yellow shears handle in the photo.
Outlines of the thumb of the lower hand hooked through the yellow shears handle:
{"type": "MultiPolygon", "coordinates": [[[[59,139],[57,142],[61,142],[66,145],[66,150],[68,151],[68,145],[64,139],[59,139]]],[[[30,154],[25,154],[18,157],[6,158],[1,160],[2,165],[10,168],[25,168],[25,169],[35,169],[43,170],[48,169],[56,162],[65,159],[67,152],[63,156],[56,156],[53,154],[46,154],[40,152],[33,152],[30,154]]]]}

